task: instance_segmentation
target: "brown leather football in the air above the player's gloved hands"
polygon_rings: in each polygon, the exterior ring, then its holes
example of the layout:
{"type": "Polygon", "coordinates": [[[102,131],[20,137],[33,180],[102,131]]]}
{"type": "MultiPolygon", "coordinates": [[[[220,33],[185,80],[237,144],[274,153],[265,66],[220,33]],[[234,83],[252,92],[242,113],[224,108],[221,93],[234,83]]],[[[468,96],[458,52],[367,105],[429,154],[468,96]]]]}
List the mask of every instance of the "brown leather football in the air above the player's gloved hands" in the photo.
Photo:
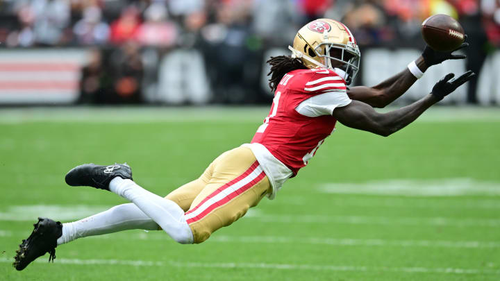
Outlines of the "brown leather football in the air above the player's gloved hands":
{"type": "Polygon", "coordinates": [[[465,41],[462,26],[449,15],[433,15],[424,20],[422,37],[436,51],[453,51],[465,41]]]}

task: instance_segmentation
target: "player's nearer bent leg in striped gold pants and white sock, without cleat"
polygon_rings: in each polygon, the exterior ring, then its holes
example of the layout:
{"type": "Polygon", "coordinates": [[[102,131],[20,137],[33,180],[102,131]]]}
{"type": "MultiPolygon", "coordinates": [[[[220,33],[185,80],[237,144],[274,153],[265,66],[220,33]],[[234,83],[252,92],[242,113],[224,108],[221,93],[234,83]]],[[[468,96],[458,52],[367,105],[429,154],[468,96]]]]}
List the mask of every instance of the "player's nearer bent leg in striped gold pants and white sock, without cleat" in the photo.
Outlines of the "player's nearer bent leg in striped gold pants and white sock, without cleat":
{"type": "Polygon", "coordinates": [[[213,231],[239,219],[249,207],[256,205],[271,191],[263,169],[251,150],[244,147],[223,153],[210,164],[200,181],[191,182],[174,192],[170,197],[179,204],[152,194],[132,180],[121,177],[113,178],[109,189],[137,205],[170,237],[181,244],[204,241],[213,231]],[[178,198],[184,195],[184,201],[190,201],[192,195],[198,193],[208,178],[210,178],[208,184],[194,198],[190,210],[192,212],[189,211],[184,215],[183,208],[179,205],[185,203],[178,201],[178,198]],[[224,194],[227,196],[223,196],[224,194]],[[218,206],[210,205],[211,203],[218,206]],[[217,217],[219,219],[216,219],[217,217]],[[186,219],[190,219],[190,225],[186,219]],[[195,230],[199,233],[199,237],[193,240],[192,231],[195,230]]]}

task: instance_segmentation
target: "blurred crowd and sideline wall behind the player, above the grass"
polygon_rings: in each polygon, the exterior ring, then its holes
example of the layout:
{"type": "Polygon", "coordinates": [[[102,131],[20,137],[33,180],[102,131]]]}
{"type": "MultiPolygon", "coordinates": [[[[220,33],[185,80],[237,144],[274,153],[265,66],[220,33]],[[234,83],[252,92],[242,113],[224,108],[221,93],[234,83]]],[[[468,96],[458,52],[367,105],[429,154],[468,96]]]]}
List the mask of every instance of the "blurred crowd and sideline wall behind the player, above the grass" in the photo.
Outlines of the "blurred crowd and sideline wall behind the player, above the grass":
{"type": "Polygon", "coordinates": [[[468,60],[433,67],[399,102],[451,69],[478,77],[444,103],[500,102],[496,0],[1,0],[0,104],[268,103],[265,60],[297,29],[330,17],[362,49],[356,84],[374,85],[424,48],[419,26],[457,18],[468,60]]]}

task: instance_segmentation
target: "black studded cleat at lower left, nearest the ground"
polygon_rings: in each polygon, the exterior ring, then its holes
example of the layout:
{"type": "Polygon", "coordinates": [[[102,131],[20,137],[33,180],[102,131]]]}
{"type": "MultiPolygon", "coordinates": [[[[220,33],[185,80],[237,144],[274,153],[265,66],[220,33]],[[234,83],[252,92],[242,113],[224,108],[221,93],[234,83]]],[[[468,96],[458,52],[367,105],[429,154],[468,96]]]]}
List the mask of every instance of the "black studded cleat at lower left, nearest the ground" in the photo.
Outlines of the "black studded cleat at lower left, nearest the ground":
{"type": "Polygon", "coordinates": [[[49,253],[49,262],[56,258],[57,239],[63,235],[63,225],[59,221],[38,218],[35,229],[28,239],[23,239],[16,250],[15,262],[12,266],[22,271],[38,257],[49,253]]]}

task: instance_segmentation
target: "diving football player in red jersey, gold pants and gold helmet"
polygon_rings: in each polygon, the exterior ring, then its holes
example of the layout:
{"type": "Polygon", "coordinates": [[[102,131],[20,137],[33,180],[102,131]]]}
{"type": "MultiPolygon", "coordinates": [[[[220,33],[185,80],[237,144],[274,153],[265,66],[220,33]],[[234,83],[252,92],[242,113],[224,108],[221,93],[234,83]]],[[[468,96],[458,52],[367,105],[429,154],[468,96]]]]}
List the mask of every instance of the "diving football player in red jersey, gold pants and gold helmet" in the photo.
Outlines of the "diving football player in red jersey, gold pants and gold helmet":
{"type": "Polygon", "coordinates": [[[15,268],[20,271],[45,253],[50,261],[58,245],[74,239],[122,230],[164,230],[178,243],[201,243],[244,216],[263,197],[273,199],[285,180],[308,164],[337,121],[388,136],[474,76],[472,71],[455,79],[448,74],[419,101],[378,113],[374,107],[397,99],[428,67],[465,56],[426,47],[407,69],[379,85],[348,87],[358,72],[360,51],[344,24],[332,19],[310,22],[299,30],[290,50],[292,56],[268,61],[274,101],[250,144],[222,153],[199,178],[165,198],[136,184],[127,164],[75,167],[66,175],[68,185],[106,189],[131,203],[69,223],[39,218],[19,245],[15,268]]]}

